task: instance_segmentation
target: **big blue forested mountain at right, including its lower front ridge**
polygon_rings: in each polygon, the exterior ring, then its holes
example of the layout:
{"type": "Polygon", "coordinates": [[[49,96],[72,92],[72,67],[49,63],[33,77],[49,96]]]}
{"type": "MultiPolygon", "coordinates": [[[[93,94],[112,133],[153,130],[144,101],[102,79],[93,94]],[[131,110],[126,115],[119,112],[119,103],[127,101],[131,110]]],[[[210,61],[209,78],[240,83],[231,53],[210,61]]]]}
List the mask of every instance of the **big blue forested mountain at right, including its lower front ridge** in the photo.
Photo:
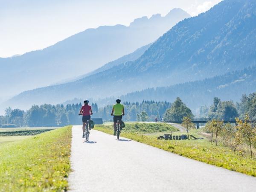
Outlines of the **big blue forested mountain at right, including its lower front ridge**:
{"type": "MultiPolygon", "coordinates": [[[[191,98],[198,98],[201,105],[212,98],[201,99],[200,92],[205,97],[221,94],[225,99],[240,98],[243,93],[256,91],[255,67],[244,70],[256,64],[255,10],[255,1],[224,0],[208,12],[177,23],[135,61],[74,82],[23,92],[5,105],[28,107],[73,98],[99,99],[148,87],[162,88],[151,89],[149,94],[146,91],[137,96],[128,94],[124,98],[172,102],[180,96],[191,104],[195,102],[191,98]],[[235,70],[238,72],[233,72],[235,70]],[[214,76],[218,77],[206,79],[214,76]],[[187,81],[195,82],[180,84],[187,81]],[[164,94],[162,97],[157,94],[158,90],[164,94]],[[209,94],[208,90],[211,90],[209,94]],[[232,94],[227,94],[229,91],[232,94]]],[[[198,103],[191,106],[198,107],[198,103]]]]}

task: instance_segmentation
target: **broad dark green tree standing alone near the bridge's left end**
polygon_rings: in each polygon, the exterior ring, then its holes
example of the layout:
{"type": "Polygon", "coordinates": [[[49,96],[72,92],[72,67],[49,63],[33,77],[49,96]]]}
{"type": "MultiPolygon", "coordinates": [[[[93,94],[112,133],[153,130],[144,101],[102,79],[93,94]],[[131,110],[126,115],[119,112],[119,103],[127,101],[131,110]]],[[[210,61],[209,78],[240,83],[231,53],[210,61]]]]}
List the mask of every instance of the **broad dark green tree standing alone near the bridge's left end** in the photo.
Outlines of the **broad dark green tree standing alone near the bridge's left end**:
{"type": "Polygon", "coordinates": [[[166,110],[163,119],[165,121],[181,120],[184,116],[194,117],[191,110],[177,97],[172,107],[166,110]]]}

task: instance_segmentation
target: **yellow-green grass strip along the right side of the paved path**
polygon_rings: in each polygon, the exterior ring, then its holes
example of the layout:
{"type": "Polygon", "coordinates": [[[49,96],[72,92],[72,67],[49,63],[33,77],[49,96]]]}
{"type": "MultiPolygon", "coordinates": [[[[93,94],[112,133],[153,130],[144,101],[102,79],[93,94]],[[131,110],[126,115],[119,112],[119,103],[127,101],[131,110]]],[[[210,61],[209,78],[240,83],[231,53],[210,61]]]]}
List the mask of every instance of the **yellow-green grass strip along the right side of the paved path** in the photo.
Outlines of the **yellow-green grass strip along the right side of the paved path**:
{"type": "MultiPolygon", "coordinates": [[[[121,132],[121,136],[184,157],[256,177],[256,158],[250,158],[249,155],[242,156],[239,151],[233,152],[230,148],[221,144],[218,146],[211,145],[206,138],[204,138],[204,140],[157,140],[157,136],[163,135],[163,132],[170,134],[171,131],[160,128],[159,130],[161,131],[157,130],[154,131],[153,134],[148,134],[150,132],[145,131],[148,129],[147,125],[148,124],[143,128],[144,131],[135,131],[133,125],[127,124],[126,128],[121,132]],[[133,131],[131,131],[131,129],[133,131]]],[[[111,126],[96,126],[95,129],[113,134],[113,128],[111,126]]],[[[151,129],[149,128],[148,130],[151,129]]],[[[184,132],[172,131],[172,134],[180,135],[184,134],[184,132]]],[[[200,130],[191,130],[190,134],[193,134],[195,137],[203,137],[200,134],[200,130]]]]}

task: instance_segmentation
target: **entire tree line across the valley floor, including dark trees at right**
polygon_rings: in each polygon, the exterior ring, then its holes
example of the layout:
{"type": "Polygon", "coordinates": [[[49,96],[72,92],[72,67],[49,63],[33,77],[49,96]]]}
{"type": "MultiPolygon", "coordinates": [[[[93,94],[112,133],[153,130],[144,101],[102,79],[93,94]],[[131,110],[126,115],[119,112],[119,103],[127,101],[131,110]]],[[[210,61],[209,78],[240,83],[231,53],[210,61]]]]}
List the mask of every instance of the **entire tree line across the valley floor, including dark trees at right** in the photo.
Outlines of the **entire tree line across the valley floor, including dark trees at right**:
{"type": "MultiPolygon", "coordinates": [[[[164,121],[181,120],[183,117],[194,117],[192,111],[181,101],[179,97],[173,104],[170,102],[143,101],[125,102],[125,121],[154,121],[164,119],[164,121]]],[[[5,116],[0,116],[0,125],[11,126],[63,126],[68,124],[77,125],[81,123],[78,116],[81,103],[64,105],[34,105],[28,111],[11,108],[6,109],[5,116]]],[[[96,103],[92,103],[93,117],[102,118],[104,121],[111,121],[110,116],[112,106],[107,105],[98,108],[96,103]]],[[[201,117],[210,119],[233,119],[244,118],[248,114],[250,118],[256,118],[256,93],[249,96],[243,95],[240,103],[236,105],[232,101],[224,101],[215,97],[213,104],[208,108],[201,107],[201,117]]]]}

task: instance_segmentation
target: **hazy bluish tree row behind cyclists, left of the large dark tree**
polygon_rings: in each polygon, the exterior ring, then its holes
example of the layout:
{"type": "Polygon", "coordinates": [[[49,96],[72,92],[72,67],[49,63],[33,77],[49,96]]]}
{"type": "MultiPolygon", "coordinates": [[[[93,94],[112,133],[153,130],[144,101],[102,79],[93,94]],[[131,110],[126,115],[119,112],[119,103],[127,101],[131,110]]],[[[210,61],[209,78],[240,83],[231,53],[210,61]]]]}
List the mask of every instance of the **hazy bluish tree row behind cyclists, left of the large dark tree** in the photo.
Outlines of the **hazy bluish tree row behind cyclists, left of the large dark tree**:
{"type": "MultiPolygon", "coordinates": [[[[143,101],[141,103],[123,103],[125,106],[125,121],[147,121],[160,119],[167,108],[171,107],[169,102],[143,101]]],[[[12,127],[41,127],[41,126],[64,126],[81,124],[81,116],[78,116],[82,104],[64,105],[33,105],[28,111],[11,108],[6,109],[5,116],[0,116],[0,126],[12,127]]],[[[98,108],[96,103],[92,103],[93,118],[103,118],[111,121],[111,110],[113,105],[98,108]]]]}

